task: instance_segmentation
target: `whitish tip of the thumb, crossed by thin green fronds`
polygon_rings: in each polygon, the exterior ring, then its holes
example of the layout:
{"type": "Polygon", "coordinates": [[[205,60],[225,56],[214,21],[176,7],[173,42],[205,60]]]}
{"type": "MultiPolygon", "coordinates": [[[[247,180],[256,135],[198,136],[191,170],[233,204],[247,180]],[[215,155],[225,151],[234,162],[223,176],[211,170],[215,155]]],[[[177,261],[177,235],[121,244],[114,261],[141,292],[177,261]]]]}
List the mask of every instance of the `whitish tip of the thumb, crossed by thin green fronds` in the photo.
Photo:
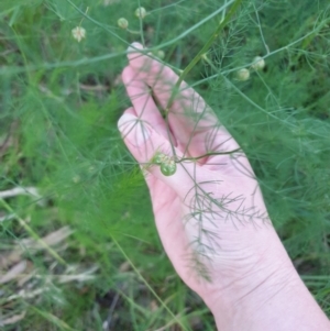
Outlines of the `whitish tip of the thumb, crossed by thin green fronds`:
{"type": "Polygon", "coordinates": [[[150,124],[130,113],[124,113],[119,119],[118,129],[122,137],[135,147],[145,144],[152,133],[150,124]]]}

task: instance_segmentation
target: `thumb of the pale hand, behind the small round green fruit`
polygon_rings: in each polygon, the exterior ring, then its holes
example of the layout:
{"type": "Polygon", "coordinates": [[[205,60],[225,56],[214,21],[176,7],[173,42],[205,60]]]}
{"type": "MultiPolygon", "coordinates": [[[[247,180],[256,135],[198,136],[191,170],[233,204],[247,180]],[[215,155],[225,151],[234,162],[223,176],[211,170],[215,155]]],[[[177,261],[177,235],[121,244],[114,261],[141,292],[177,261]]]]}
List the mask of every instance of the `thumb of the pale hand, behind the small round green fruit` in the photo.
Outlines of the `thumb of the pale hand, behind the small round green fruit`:
{"type": "Polygon", "coordinates": [[[150,123],[125,112],[118,122],[118,129],[129,151],[148,173],[172,187],[182,197],[191,189],[198,165],[196,163],[175,163],[172,159],[176,170],[170,176],[165,176],[161,172],[160,164],[154,161],[155,155],[164,154],[169,159],[173,156],[173,148],[178,158],[182,157],[182,153],[172,146],[166,137],[156,132],[150,123]]]}

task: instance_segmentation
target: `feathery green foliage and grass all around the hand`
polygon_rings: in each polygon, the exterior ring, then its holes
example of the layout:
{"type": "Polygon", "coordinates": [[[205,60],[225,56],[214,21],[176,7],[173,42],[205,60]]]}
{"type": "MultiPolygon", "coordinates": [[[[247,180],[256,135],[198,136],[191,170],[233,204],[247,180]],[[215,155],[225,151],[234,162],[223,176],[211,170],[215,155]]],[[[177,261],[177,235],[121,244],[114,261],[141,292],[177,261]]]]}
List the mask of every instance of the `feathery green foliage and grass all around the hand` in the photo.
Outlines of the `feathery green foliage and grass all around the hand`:
{"type": "MultiPolygon", "coordinates": [[[[130,106],[128,45],[185,69],[227,2],[1,1],[2,330],[215,329],[163,252],[117,121],[130,106]]],[[[249,155],[283,243],[330,316],[329,26],[326,0],[242,1],[185,79],[249,155]],[[263,70],[251,69],[255,56],[263,70]],[[250,79],[238,80],[240,68],[250,79]]]]}

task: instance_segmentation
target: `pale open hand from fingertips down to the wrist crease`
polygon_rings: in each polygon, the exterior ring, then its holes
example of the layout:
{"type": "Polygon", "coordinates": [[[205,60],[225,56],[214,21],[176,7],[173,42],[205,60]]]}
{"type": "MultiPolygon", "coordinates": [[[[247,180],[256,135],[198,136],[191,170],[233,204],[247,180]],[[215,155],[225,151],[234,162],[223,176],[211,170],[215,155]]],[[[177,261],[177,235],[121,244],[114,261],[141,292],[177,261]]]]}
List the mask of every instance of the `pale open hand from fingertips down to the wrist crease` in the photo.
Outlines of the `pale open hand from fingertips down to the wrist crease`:
{"type": "Polygon", "coordinates": [[[274,256],[282,245],[246,156],[185,82],[170,104],[167,126],[155,100],[166,109],[178,76],[138,51],[128,56],[122,79],[133,108],[119,129],[144,168],[156,227],[175,269],[207,302],[242,277],[255,285],[277,267],[275,262],[256,276],[265,267],[260,265],[265,254],[275,250],[274,256]],[[157,153],[174,157],[175,174],[164,176],[151,165],[157,153]]]}

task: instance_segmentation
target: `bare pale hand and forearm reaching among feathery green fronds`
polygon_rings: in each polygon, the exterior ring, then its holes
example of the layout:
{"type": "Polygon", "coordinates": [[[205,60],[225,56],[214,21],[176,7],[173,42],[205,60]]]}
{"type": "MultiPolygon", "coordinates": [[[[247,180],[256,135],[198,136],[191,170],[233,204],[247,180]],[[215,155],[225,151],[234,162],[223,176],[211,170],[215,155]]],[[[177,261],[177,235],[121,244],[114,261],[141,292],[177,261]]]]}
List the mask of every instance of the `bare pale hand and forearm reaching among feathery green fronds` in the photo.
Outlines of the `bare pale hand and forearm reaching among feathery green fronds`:
{"type": "Polygon", "coordinates": [[[158,108],[167,109],[178,76],[132,46],[122,80],[133,107],[118,126],[141,164],[178,275],[219,330],[330,330],[272,225],[239,144],[186,82],[169,104],[167,125],[158,108]],[[157,153],[173,156],[175,174],[151,165],[157,153]]]}

